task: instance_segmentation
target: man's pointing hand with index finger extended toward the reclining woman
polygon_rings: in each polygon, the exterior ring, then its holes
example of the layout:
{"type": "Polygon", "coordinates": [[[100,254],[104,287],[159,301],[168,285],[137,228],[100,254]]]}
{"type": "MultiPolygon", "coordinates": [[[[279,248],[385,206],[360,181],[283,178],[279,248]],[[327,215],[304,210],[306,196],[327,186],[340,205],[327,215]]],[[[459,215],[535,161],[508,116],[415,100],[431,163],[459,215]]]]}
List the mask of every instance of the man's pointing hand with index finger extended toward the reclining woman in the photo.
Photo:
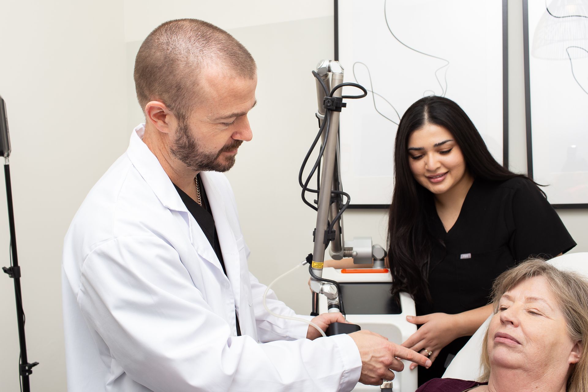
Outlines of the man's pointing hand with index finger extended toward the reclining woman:
{"type": "Polygon", "coordinates": [[[409,360],[425,367],[431,366],[431,361],[427,357],[392,343],[377,333],[358,331],[350,333],[349,336],[358,346],[362,359],[360,383],[381,385],[383,380],[392,380],[394,378],[392,370],[402,371],[404,368],[400,359],[409,360]]]}

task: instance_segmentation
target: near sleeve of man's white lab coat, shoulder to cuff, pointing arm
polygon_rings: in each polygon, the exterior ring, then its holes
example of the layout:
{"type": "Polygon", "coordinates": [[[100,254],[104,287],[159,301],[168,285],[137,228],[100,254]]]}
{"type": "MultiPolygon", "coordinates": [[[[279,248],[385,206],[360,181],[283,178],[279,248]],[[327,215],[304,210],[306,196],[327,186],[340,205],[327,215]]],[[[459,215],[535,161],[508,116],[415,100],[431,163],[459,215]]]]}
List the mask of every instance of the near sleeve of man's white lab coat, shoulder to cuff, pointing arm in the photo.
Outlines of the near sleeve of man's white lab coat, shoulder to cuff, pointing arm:
{"type": "Polygon", "coordinates": [[[359,379],[349,336],[265,344],[232,336],[158,237],[101,243],[81,272],[76,300],[86,323],[153,391],[349,391],[359,379]]]}

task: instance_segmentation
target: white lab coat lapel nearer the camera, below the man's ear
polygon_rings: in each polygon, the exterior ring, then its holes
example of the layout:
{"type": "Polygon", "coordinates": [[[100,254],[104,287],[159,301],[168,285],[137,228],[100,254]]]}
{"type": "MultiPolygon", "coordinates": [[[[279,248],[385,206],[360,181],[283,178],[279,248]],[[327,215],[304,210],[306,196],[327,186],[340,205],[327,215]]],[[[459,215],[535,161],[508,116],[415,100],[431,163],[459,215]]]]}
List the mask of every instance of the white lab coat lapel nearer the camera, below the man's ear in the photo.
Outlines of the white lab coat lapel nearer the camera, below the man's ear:
{"type": "MultiPolygon", "coordinates": [[[[165,170],[163,170],[159,160],[149,150],[148,146],[143,143],[143,140],[141,140],[144,132],[145,128],[143,124],[133,130],[129,148],[126,151],[129,159],[143,179],[145,179],[145,182],[151,187],[159,201],[168,209],[181,213],[183,219],[188,224],[190,240],[196,253],[217,267],[220,270],[220,274],[224,275],[222,266],[220,266],[219,259],[216,257],[211,243],[208,242],[208,239],[204,232],[202,232],[201,227],[196,223],[196,220],[192,217],[192,214],[188,212],[188,209],[182,202],[182,198],[178,195],[178,191],[173,186],[165,170]]],[[[185,260],[184,262],[186,263],[185,260]]]]}

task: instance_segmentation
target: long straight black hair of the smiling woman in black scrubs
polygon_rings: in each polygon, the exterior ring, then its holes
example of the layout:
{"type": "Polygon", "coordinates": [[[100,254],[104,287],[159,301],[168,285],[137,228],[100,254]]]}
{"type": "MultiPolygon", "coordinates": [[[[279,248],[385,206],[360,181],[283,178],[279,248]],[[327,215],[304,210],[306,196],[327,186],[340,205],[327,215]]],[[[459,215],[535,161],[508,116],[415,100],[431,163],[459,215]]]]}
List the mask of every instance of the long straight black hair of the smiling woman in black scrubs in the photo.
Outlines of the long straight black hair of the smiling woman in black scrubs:
{"type": "Polygon", "coordinates": [[[388,214],[388,260],[393,279],[391,292],[393,296],[406,292],[413,298],[418,296],[432,301],[428,280],[430,253],[435,239],[428,229],[426,206],[433,203],[433,194],[416,182],[407,152],[410,134],[427,123],[442,126],[452,133],[473,177],[491,181],[505,181],[513,177],[532,180],[500,166],[488,151],[472,120],[452,100],[427,96],[406,110],[396,132],[394,192],[388,214]]]}

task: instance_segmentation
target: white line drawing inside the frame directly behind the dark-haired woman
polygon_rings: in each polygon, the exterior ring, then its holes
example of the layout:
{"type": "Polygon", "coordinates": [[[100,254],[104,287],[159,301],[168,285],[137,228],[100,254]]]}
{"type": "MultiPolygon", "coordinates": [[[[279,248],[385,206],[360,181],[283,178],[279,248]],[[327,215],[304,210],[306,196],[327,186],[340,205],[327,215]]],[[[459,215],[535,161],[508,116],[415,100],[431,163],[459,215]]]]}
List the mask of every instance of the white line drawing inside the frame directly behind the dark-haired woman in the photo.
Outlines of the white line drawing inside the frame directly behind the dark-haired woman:
{"type": "Polygon", "coordinates": [[[426,96],[459,102],[502,162],[505,1],[338,1],[338,61],[368,91],[340,120],[340,155],[348,157],[340,170],[352,206],[390,203],[400,119],[426,96]]]}

